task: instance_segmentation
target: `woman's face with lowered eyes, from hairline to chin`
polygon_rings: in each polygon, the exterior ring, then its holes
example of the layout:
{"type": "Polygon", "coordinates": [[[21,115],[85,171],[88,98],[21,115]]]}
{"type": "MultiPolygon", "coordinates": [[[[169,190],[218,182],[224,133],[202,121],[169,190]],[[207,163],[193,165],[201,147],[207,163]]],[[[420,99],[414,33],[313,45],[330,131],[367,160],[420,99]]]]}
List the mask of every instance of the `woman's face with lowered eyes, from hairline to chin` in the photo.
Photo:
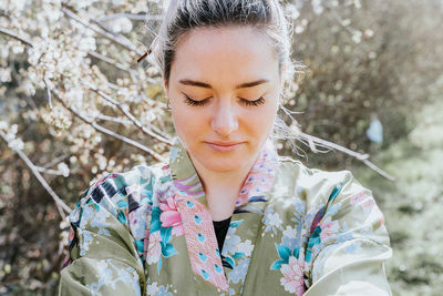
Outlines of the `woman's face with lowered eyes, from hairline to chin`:
{"type": "Polygon", "coordinates": [[[249,27],[194,29],[181,40],[164,86],[193,162],[214,172],[254,163],[277,114],[278,71],[267,37],[249,27]]]}

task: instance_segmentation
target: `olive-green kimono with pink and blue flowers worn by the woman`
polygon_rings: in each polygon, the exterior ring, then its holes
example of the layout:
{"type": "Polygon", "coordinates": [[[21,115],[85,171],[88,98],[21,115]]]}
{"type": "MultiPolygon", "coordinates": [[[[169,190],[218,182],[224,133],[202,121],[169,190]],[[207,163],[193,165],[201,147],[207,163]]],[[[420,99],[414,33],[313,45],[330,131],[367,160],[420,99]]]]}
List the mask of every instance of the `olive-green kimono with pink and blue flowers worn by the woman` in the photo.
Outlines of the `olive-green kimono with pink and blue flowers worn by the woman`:
{"type": "Polygon", "coordinates": [[[85,190],[70,223],[59,295],[391,295],[392,251],[371,191],[349,171],[278,156],[269,139],[222,249],[178,139],[168,163],[85,190]]]}

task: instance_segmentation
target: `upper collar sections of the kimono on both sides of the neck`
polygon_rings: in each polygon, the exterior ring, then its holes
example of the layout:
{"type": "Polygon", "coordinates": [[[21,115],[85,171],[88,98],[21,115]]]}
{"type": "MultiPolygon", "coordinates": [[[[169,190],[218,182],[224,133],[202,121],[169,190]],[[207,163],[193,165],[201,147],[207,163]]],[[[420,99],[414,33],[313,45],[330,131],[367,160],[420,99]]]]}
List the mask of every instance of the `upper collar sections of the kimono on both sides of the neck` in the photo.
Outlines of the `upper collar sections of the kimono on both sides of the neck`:
{"type": "MultiPolygon", "coordinates": [[[[179,194],[197,200],[206,207],[207,201],[198,174],[189,155],[178,137],[175,139],[169,156],[169,167],[174,185],[179,194]]],[[[264,197],[274,184],[278,170],[278,154],[268,137],[240,190],[236,208],[248,202],[264,197]]]]}

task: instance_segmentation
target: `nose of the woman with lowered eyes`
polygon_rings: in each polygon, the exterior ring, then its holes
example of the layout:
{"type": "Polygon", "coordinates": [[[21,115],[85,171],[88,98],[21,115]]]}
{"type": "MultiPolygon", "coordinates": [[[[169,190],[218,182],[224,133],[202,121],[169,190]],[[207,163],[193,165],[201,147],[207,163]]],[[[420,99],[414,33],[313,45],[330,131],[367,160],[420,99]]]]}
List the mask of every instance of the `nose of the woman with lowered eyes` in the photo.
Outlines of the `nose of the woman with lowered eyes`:
{"type": "Polygon", "coordinates": [[[223,102],[216,106],[210,125],[223,137],[228,137],[238,129],[238,121],[230,102],[223,102]]]}

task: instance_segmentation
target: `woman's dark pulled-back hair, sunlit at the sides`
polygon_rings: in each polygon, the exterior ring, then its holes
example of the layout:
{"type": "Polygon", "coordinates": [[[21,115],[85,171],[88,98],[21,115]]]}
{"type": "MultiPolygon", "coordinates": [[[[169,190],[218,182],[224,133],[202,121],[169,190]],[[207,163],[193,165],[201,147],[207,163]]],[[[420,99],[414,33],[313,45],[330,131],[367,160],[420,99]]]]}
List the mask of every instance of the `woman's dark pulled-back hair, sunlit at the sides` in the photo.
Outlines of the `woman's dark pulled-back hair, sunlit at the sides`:
{"type": "Polygon", "coordinates": [[[248,25],[269,38],[280,75],[284,73],[285,82],[290,84],[296,67],[290,60],[289,24],[278,0],[171,0],[148,60],[168,83],[175,49],[193,29],[248,25]]]}

